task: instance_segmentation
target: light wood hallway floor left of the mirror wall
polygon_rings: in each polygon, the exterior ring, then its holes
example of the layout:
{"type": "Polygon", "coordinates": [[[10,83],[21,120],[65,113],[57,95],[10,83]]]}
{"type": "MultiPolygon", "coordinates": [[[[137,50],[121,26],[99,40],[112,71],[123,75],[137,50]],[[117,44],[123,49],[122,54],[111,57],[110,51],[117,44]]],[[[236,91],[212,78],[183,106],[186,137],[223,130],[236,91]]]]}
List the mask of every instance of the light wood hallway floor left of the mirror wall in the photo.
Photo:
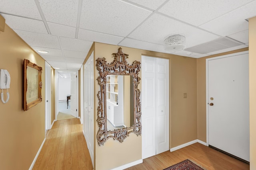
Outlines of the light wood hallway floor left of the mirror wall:
{"type": "Polygon", "coordinates": [[[33,170],[92,170],[92,162],[80,120],[54,122],[33,170]]]}

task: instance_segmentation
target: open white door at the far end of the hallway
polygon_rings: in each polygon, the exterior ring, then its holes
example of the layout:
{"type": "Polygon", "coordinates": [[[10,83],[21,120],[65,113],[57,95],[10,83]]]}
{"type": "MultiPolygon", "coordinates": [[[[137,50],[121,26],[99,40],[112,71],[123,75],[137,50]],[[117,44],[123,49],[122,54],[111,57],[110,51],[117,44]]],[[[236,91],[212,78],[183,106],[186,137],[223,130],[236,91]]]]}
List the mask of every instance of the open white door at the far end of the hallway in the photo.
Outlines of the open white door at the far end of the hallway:
{"type": "Polygon", "coordinates": [[[77,98],[77,88],[76,88],[76,72],[70,72],[71,76],[71,86],[70,86],[70,111],[71,115],[77,117],[77,107],[76,107],[76,98],[77,98]]]}

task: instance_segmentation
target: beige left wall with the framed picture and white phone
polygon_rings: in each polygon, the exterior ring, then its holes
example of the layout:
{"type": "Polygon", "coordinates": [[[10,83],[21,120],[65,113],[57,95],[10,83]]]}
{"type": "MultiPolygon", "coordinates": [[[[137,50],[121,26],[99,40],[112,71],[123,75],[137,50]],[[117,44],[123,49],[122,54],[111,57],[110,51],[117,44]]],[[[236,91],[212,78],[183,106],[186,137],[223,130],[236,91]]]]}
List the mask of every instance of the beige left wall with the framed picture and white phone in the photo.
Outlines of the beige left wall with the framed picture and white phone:
{"type": "Polygon", "coordinates": [[[45,87],[42,86],[42,102],[23,111],[23,60],[43,68],[44,82],[44,59],[8,25],[4,32],[0,31],[0,59],[0,68],[8,70],[11,76],[10,100],[7,104],[0,102],[0,169],[28,170],[44,140],[45,87]]]}

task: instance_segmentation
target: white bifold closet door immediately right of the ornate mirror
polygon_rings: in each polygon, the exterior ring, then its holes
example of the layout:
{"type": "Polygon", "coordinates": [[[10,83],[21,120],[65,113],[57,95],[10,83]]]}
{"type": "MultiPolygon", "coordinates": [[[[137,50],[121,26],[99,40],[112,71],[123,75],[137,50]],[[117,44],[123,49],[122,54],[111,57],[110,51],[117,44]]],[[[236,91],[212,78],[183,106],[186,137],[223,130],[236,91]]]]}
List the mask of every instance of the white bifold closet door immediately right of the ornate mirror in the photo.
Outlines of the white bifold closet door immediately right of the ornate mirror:
{"type": "Polygon", "coordinates": [[[142,159],[169,150],[169,60],[142,56],[142,159]]]}

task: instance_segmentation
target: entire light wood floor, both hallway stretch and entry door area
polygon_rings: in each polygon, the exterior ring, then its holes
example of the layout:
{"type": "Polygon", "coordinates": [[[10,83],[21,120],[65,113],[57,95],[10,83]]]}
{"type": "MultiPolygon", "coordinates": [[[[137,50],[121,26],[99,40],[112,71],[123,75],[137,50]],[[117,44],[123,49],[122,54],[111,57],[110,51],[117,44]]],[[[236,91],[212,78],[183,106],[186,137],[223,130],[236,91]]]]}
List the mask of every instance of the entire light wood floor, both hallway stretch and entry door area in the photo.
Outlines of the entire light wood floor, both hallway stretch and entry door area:
{"type": "MultiPolygon", "coordinates": [[[[166,151],[146,158],[126,170],[163,170],[190,159],[208,170],[249,170],[249,165],[222,152],[195,143],[174,152],[166,151]]],[[[92,162],[79,119],[56,121],[33,170],[92,170],[92,162]]]]}

